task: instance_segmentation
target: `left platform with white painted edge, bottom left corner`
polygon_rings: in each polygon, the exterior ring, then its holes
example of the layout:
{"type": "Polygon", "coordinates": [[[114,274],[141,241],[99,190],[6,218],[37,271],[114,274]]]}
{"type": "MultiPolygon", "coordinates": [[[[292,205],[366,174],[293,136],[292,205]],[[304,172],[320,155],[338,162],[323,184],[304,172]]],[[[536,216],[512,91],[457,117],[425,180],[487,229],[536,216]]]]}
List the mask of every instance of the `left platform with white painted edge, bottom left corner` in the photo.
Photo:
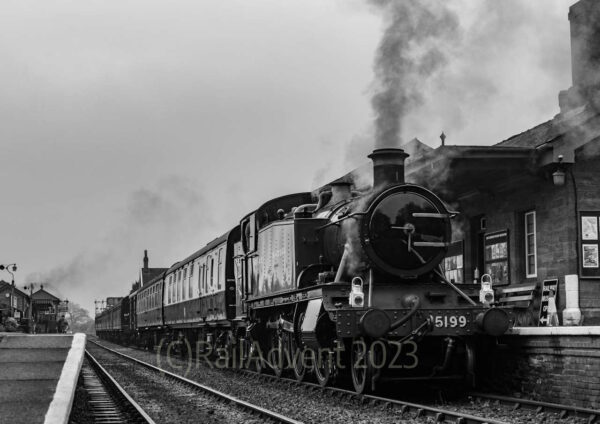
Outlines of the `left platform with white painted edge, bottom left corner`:
{"type": "Polygon", "coordinates": [[[67,423],[85,334],[0,333],[0,423],[67,423]]]}

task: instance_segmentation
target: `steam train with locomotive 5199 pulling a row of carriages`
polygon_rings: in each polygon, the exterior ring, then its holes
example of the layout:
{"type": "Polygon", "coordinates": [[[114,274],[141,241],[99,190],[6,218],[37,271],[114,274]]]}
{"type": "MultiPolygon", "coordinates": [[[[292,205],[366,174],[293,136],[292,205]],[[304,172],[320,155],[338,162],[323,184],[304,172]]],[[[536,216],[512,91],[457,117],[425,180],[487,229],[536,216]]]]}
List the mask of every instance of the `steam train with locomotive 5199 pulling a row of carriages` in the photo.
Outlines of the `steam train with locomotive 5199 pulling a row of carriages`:
{"type": "Polygon", "coordinates": [[[358,393],[390,379],[474,384],[477,345],[511,319],[445,278],[456,212],[405,183],[407,156],[373,151],[368,190],[342,180],[263,204],[98,315],[97,334],[237,352],[259,372],[348,378],[358,393]]]}

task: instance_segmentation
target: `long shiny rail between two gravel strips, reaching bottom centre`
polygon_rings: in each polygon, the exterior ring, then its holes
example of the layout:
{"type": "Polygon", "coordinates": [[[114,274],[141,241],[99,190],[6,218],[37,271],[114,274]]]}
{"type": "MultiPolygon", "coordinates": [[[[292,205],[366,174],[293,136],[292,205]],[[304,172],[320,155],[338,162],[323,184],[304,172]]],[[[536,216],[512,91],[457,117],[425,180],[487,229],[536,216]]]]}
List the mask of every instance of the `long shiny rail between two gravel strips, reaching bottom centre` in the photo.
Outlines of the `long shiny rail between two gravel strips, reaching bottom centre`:
{"type": "Polygon", "coordinates": [[[227,405],[234,405],[238,409],[249,413],[250,415],[260,419],[261,422],[270,422],[270,423],[282,423],[282,424],[302,424],[301,421],[297,421],[295,419],[286,417],[282,414],[279,414],[274,411],[270,411],[266,408],[262,408],[258,405],[254,405],[250,402],[246,402],[241,399],[237,399],[233,396],[230,396],[226,393],[220,392],[218,390],[214,390],[208,386],[203,384],[199,384],[195,381],[182,377],[178,374],[172,373],[163,368],[156,367],[148,362],[141,361],[137,358],[133,358],[124,353],[118,352],[114,349],[110,349],[109,347],[103,346],[100,343],[97,343],[93,340],[88,340],[88,342],[93,343],[94,345],[118,356],[119,358],[125,359],[128,362],[135,363],[137,365],[142,366],[143,368],[150,370],[155,373],[159,373],[162,376],[168,377],[169,379],[177,382],[178,384],[184,385],[188,388],[191,388],[194,391],[199,391],[207,396],[210,396],[213,399],[219,400],[227,405]]]}

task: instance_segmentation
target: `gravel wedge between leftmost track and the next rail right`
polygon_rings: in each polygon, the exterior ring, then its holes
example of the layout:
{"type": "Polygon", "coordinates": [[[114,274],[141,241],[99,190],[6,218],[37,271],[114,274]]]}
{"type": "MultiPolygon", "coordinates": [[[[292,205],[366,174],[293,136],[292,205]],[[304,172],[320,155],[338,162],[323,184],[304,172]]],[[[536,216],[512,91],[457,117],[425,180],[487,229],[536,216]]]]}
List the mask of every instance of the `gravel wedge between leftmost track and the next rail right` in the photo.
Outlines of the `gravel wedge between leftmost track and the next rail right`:
{"type": "Polygon", "coordinates": [[[194,391],[147,368],[127,362],[93,344],[87,349],[158,423],[248,423],[262,420],[194,391]]]}

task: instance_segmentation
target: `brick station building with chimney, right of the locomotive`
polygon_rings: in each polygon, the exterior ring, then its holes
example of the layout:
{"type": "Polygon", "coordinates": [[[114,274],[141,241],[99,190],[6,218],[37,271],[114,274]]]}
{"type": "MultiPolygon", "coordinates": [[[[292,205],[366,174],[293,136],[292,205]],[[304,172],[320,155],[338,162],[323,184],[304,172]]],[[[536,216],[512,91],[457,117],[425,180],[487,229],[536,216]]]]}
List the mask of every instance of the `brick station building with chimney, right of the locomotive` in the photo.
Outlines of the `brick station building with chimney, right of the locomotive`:
{"type": "Polygon", "coordinates": [[[600,325],[600,4],[577,2],[569,20],[573,85],[554,118],[493,146],[442,145],[407,166],[407,181],[460,212],[448,277],[536,286],[518,325],[547,324],[545,281],[558,284],[561,325],[600,325]]]}

